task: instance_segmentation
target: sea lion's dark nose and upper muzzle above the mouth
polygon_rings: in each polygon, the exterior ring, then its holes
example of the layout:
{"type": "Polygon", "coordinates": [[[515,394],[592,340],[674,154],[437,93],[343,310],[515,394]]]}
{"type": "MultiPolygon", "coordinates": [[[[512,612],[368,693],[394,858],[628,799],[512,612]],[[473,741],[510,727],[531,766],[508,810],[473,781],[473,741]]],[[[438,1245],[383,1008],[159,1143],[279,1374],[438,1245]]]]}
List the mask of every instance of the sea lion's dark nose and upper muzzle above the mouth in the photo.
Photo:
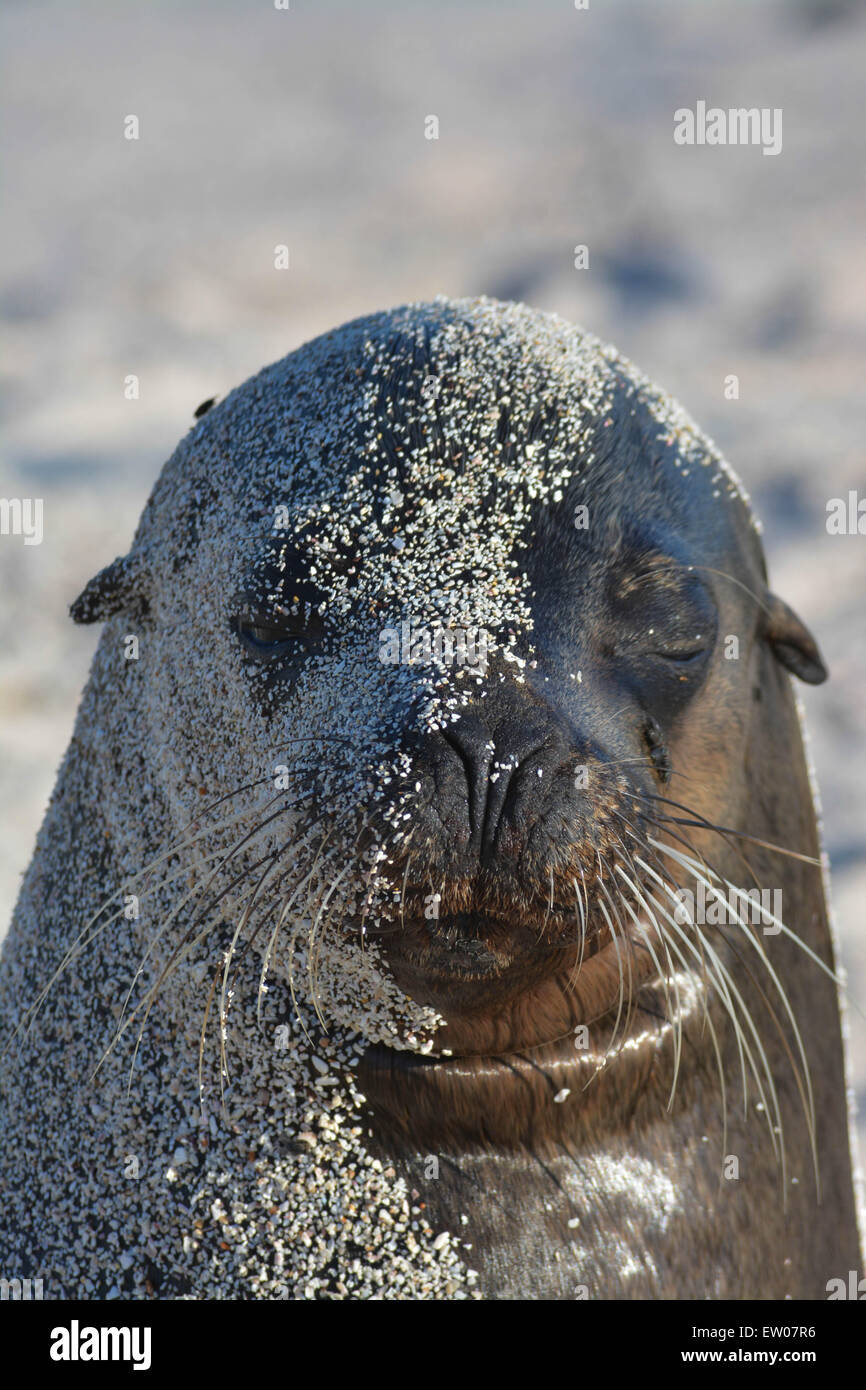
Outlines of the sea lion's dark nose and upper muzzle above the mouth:
{"type": "Polygon", "coordinates": [[[552,876],[566,863],[577,873],[577,858],[594,863],[599,808],[614,796],[610,770],[553,703],[500,682],[495,669],[459,717],[406,742],[411,776],[393,791],[411,817],[393,863],[405,906],[427,885],[442,916],[534,922],[549,910],[552,876]],[[589,762],[592,788],[581,777],[589,762]]]}

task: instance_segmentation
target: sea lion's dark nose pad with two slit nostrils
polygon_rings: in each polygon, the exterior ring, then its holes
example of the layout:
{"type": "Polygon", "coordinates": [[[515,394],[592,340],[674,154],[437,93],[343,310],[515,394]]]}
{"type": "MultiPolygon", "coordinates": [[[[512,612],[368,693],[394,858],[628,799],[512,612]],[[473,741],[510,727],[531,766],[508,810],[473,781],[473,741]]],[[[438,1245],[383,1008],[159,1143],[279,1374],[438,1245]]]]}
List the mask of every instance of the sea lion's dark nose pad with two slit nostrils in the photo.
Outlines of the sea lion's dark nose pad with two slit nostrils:
{"type": "Polygon", "coordinates": [[[495,851],[518,848],[532,823],[532,803],[550,753],[557,762],[562,756],[556,731],[538,720],[510,717],[493,733],[484,719],[467,712],[443,730],[443,738],[466,776],[467,848],[482,860],[495,851]]]}

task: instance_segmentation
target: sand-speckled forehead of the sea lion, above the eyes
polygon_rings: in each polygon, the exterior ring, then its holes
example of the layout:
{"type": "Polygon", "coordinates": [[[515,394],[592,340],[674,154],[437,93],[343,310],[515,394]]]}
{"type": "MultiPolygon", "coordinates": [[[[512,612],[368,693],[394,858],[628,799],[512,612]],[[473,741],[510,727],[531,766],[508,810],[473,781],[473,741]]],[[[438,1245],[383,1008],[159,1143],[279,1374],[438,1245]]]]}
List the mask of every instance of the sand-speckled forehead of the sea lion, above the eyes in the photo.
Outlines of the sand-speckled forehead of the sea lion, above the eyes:
{"type": "MultiPolygon", "coordinates": [[[[717,495],[744,496],[677,403],[614,349],[523,306],[442,299],[349,324],[232,392],[157,484],[154,513],[183,527],[157,524],[174,569],[178,550],[213,543],[209,527],[228,530],[247,564],[274,528],[309,563],[316,553],[332,605],[353,588],[453,610],[474,581],[474,610],[496,621],[531,505],[598,471],[596,445],[610,455],[614,392],[657,425],[651,448],[676,446],[671,467],[702,463],[717,495]]],[[[152,530],[146,517],[142,542],[152,530]]]]}

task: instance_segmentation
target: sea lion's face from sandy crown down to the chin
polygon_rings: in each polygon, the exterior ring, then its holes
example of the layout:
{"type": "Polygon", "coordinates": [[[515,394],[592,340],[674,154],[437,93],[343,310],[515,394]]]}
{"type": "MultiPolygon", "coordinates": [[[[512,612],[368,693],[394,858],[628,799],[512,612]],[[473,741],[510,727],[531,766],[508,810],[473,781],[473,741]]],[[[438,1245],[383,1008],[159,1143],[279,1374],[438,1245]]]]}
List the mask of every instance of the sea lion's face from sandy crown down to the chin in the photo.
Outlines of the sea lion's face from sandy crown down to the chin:
{"type": "Polygon", "coordinates": [[[250,788],[263,899],[375,942],[455,1051],[606,1013],[623,951],[652,973],[617,876],[653,796],[688,766],[721,820],[765,639],[809,660],[713,446],[491,302],[349,325],[210,410],[114,584],[175,824],[250,788]]]}

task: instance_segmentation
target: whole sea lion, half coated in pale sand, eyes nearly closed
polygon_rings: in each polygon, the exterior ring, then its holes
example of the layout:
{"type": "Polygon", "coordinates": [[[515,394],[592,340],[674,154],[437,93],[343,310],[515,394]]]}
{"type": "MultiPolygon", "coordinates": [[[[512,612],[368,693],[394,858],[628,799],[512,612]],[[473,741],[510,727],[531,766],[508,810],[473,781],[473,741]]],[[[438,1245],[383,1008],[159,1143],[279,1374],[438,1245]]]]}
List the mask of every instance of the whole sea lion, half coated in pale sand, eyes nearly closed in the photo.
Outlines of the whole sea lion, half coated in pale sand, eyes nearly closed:
{"type": "Polygon", "coordinates": [[[788,680],[824,666],[735,475],[612,348],[487,299],[327,334],[200,414],[72,616],[106,627],[3,955],[0,1268],[859,1268],[788,680]]]}

